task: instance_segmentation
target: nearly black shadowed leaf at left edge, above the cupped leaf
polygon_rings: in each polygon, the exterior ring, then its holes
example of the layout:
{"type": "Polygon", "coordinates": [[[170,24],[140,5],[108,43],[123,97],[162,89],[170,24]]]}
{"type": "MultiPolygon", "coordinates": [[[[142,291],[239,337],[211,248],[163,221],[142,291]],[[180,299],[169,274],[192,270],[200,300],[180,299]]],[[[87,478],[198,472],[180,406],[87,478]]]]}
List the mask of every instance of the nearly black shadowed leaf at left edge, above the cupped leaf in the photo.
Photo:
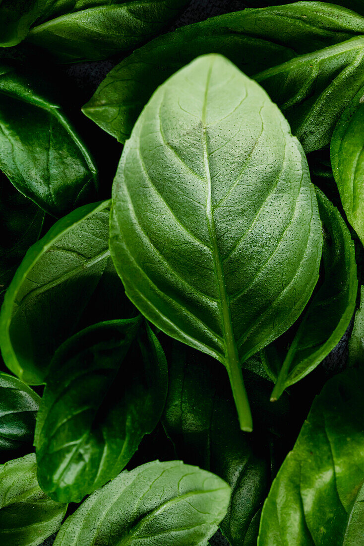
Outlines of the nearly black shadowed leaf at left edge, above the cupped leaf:
{"type": "Polygon", "coordinates": [[[0,293],[8,287],[29,246],[39,238],[44,211],[0,173],[0,293]]]}

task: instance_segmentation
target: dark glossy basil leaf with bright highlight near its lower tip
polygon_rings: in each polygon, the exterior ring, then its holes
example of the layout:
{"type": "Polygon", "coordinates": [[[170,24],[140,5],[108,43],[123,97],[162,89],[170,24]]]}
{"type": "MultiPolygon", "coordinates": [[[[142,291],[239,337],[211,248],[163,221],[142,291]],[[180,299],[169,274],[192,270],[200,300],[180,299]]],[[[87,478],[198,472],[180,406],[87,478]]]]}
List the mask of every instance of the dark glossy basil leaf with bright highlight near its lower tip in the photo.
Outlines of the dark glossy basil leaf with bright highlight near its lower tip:
{"type": "Polygon", "coordinates": [[[162,415],[163,349],[141,317],[96,324],[52,360],[37,417],[38,480],[59,502],[79,502],[123,470],[162,415]]]}

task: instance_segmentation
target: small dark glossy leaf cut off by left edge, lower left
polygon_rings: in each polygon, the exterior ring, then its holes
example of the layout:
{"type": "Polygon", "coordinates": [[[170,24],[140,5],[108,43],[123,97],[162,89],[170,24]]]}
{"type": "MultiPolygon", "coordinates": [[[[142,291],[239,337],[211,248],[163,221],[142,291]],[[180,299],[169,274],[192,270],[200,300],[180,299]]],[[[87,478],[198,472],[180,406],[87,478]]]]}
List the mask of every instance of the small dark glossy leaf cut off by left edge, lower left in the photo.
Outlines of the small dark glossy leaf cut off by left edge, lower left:
{"type": "Polygon", "coordinates": [[[0,372],[0,451],[33,443],[39,402],[25,383],[0,372]]]}

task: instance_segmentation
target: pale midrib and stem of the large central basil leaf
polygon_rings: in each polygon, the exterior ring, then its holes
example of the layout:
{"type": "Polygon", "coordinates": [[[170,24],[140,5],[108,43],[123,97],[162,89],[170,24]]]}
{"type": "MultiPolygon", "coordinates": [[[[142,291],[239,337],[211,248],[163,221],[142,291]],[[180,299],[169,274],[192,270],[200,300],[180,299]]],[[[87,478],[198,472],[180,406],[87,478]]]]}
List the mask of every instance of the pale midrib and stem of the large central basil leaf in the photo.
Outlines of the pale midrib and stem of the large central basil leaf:
{"type": "Polygon", "coordinates": [[[206,199],[206,216],[207,216],[207,226],[208,233],[210,235],[210,240],[212,243],[212,256],[214,262],[214,269],[216,271],[217,284],[219,290],[219,299],[221,302],[221,314],[222,314],[222,325],[223,325],[223,334],[225,341],[225,366],[229,373],[232,393],[234,394],[234,399],[236,403],[236,408],[240,420],[240,426],[242,430],[251,431],[253,430],[252,418],[250,416],[249,402],[247,399],[247,394],[243,384],[242,372],[240,361],[238,357],[238,351],[236,347],[234,330],[232,329],[229,297],[226,293],[225,281],[224,281],[224,272],[222,261],[220,259],[219,247],[216,238],[216,229],[215,222],[213,218],[212,211],[212,185],[211,185],[211,173],[210,173],[210,163],[208,160],[208,143],[207,143],[207,127],[206,127],[206,108],[207,108],[207,97],[208,97],[208,88],[210,86],[211,73],[212,73],[213,61],[210,64],[208,70],[207,79],[206,79],[206,89],[204,104],[202,106],[202,148],[204,152],[204,164],[206,171],[207,179],[207,199],[206,199]]]}

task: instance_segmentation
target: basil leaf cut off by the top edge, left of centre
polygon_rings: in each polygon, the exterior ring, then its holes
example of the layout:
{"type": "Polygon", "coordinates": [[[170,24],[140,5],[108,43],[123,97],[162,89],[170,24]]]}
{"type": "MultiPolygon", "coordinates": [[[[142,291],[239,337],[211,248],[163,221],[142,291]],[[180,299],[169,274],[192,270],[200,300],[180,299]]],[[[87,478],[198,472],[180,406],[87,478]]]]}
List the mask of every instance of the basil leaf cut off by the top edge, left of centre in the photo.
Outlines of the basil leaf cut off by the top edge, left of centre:
{"type": "Polygon", "coordinates": [[[61,62],[120,54],[158,34],[188,0],[59,0],[48,2],[27,35],[61,62]]]}

